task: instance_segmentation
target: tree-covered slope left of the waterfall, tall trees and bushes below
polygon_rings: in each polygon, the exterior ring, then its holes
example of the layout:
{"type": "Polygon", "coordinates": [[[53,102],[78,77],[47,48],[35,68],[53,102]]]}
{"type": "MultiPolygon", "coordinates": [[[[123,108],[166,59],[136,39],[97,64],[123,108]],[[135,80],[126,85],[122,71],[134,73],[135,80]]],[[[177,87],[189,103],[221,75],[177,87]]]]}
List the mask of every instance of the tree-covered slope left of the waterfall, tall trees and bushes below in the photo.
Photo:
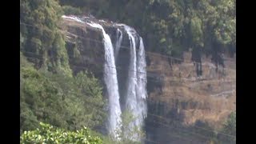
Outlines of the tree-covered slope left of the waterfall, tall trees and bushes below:
{"type": "Polygon", "coordinates": [[[54,0],[21,0],[20,5],[21,133],[35,130],[39,122],[67,130],[103,126],[102,84],[90,71],[70,69],[58,27],[62,7],[54,0]]]}

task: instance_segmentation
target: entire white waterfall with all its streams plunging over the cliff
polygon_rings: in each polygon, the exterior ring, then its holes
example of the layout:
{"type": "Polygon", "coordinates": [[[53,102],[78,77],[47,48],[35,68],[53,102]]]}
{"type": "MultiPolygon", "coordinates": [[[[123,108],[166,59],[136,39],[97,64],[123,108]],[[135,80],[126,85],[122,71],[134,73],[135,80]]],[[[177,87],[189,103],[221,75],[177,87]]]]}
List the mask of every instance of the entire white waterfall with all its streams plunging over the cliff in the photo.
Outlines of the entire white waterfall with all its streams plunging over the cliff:
{"type": "MultiPolygon", "coordinates": [[[[74,16],[62,16],[62,18],[70,18],[77,22],[82,22],[91,27],[102,30],[103,43],[105,50],[104,63],[104,81],[106,83],[106,92],[108,96],[109,116],[107,122],[107,130],[110,136],[119,140],[119,134],[122,131],[126,138],[133,141],[142,141],[138,133],[129,135],[130,131],[135,128],[142,130],[144,119],[146,118],[146,58],[142,38],[130,26],[124,24],[116,24],[116,42],[113,46],[109,34],[106,34],[103,26],[97,22],[90,21],[90,18],[77,18],[74,16]],[[120,28],[120,29],[119,29],[120,28]],[[130,42],[130,59],[128,67],[128,75],[126,75],[126,85],[124,92],[120,93],[118,85],[118,73],[116,63],[118,53],[122,42],[125,41],[123,33],[126,33],[130,42]],[[138,46],[136,44],[139,44],[138,46]],[[138,47],[138,50],[136,48],[138,47]],[[119,95],[121,94],[121,95],[119,95]],[[124,98],[124,106],[120,106],[120,96],[124,98]],[[122,107],[122,109],[121,109],[122,107]],[[128,129],[122,130],[122,113],[128,110],[134,116],[134,120],[130,122],[128,129]]],[[[114,37],[112,35],[112,37],[114,37]]],[[[127,39],[126,39],[127,40],[127,39]]]]}

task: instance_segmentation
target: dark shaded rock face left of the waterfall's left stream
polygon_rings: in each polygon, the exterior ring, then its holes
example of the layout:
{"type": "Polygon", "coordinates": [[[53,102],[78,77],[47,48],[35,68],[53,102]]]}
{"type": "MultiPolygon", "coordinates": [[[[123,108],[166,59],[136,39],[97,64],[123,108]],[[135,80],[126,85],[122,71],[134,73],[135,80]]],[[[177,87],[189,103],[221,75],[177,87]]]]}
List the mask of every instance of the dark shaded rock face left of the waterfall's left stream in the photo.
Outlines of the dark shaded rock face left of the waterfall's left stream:
{"type": "Polygon", "coordinates": [[[104,62],[102,32],[71,19],[63,18],[61,26],[66,36],[70,68],[74,73],[90,70],[98,78],[102,77],[104,62]]]}

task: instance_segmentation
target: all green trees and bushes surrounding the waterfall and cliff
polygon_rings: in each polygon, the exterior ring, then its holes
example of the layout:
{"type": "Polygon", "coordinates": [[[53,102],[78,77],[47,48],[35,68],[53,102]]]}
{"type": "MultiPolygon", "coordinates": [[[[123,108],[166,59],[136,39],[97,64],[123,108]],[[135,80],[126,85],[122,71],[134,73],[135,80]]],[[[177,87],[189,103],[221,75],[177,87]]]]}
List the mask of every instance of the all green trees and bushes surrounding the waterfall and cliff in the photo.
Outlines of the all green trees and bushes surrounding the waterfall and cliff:
{"type": "MultiPolygon", "coordinates": [[[[201,62],[201,54],[205,53],[220,64],[221,53],[235,52],[235,2],[20,0],[21,143],[114,143],[93,131],[106,120],[106,100],[94,74],[88,71],[74,74],[70,69],[66,42],[59,27],[62,14],[93,14],[126,23],[142,36],[147,50],[182,57],[184,50],[192,48],[195,62],[201,62]],[[100,138],[90,136],[83,126],[100,138]]],[[[79,51],[74,52],[75,58],[79,51]]],[[[230,114],[223,133],[236,134],[235,118],[235,112],[230,114]]],[[[124,113],[122,119],[122,129],[127,129],[133,116],[124,113]]],[[[139,132],[140,137],[144,135],[138,128],[129,134],[120,132],[120,143],[133,143],[127,138],[134,132],[139,132]]],[[[217,136],[235,142],[235,138],[217,136]]]]}

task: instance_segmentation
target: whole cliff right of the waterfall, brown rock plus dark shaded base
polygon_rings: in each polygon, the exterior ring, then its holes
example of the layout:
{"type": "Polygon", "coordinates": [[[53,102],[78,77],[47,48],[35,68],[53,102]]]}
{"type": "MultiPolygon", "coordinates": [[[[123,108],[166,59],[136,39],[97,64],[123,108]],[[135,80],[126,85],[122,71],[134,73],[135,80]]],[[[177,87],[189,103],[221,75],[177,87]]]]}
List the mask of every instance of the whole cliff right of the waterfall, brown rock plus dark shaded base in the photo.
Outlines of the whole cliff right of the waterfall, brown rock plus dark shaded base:
{"type": "Polygon", "coordinates": [[[171,66],[168,58],[151,54],[149,59],[147,70],[152,78],[148,78],[146,122],[154,128],[147,128],[148,138],[160,143],[207,143],[204,135],[212,137],[236,109],[235,58],[226,57],[225,69],[216,71],[210,58],[204,57],[201,77],[190,52],[184,53],[184,62],[171,66]],[[177,138],[182,134],[187,139],[177,138]]]}

